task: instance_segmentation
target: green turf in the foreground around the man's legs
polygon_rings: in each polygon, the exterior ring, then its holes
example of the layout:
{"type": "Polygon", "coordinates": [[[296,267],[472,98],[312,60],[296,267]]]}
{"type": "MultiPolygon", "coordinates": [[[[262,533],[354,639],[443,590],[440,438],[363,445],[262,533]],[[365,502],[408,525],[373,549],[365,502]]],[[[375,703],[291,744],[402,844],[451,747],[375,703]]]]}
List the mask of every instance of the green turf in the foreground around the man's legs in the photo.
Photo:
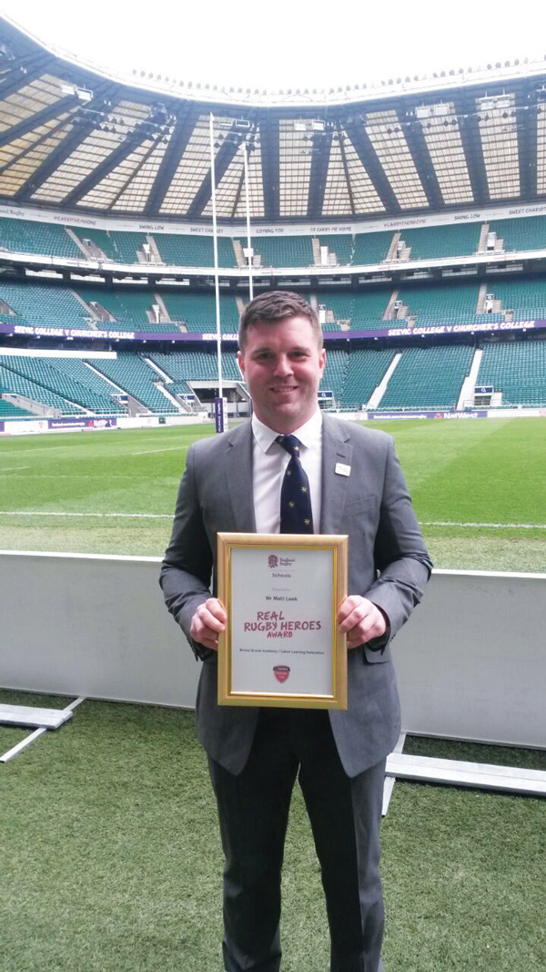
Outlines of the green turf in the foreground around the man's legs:
{"type": "MultiPolygon", "coordinates": [[[[7,691],[0,701],[66,704],[7,691]]],[[[192,721],[86,701],[0,766],[2,972],[220,972],[222,851],[192,721]]],[[[15,730],[5,732],[0,751],[15,730]]],[[[532,750],[418,739],[406,749],[544,768],[532,750]]],[[[397,782],[383,826],[388,972],[543,972],[545,845],[543,800],[397,782]]],[[[328,968],[297,787],[283,939],[284,972],[328,968]]]]}

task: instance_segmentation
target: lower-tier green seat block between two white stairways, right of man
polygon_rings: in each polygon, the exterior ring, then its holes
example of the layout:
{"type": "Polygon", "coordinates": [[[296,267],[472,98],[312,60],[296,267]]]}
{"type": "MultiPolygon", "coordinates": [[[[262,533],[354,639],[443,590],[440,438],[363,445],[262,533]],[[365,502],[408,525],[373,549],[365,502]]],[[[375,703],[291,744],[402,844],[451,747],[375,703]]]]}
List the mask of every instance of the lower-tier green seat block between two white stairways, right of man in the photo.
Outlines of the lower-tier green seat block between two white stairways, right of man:
{"type": "Polygon", "coordinates": [[[455,408],[474,348],[407,348],[392,372],[381,409],[455,408]]]}

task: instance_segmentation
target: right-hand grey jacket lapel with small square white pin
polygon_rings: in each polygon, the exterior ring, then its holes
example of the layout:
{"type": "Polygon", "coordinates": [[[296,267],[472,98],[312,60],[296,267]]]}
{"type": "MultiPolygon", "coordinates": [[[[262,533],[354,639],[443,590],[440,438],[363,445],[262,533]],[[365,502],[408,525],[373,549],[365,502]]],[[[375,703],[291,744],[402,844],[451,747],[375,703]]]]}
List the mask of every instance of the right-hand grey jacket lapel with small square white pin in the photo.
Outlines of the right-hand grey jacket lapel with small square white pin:
{"type": "Polygon", "coordinates": [[[323,416],[323,497],[321,533],[338,534],[345,509],[350,475],[336,472],[336,466],[351,468],[353,446],[350,435],[329,415],[323,416]]]}

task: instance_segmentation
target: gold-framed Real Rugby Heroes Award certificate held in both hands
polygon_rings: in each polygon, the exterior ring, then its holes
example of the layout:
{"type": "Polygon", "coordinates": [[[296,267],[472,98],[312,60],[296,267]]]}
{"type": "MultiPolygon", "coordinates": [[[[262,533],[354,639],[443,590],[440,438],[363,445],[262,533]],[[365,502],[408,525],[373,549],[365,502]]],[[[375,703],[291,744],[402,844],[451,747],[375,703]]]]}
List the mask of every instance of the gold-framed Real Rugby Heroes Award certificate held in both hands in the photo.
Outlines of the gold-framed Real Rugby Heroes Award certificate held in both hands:
{"type": "Polygon", "coordinates": [[[223,706],[347,709],[347,537],[219,534],[223,706]]]}

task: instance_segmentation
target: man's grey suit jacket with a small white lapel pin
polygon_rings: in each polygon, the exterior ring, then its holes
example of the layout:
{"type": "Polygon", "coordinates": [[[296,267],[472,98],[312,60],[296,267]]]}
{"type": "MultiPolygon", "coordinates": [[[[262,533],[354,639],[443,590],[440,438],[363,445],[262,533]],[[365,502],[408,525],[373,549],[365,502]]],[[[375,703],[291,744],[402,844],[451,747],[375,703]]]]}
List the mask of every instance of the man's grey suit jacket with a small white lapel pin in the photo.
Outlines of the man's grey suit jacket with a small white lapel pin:
{"type": "MultiPolygon", "coordinates": [[[[250,422],[190,447],[160,576],[168,609],[203,661],[197,735],[231,773],[246,763],[258,709],[218,705],[216,652],[192,642],[189,625],[195,608],[216,595],[217,533],[256,532],[252,455],[250,422]]],[[[431,563],[390,435],[324,415],[321,533],[349,536],[349,593],[387,613],[392,638],[418,604],[431,563]],[[350,475],[336,473],[337,463],[350,475]]],[[[353,777],[392,751],[400,719],[389,645],[361,645],[348,659],[349,708],[328,714],[353,777]]]]}

